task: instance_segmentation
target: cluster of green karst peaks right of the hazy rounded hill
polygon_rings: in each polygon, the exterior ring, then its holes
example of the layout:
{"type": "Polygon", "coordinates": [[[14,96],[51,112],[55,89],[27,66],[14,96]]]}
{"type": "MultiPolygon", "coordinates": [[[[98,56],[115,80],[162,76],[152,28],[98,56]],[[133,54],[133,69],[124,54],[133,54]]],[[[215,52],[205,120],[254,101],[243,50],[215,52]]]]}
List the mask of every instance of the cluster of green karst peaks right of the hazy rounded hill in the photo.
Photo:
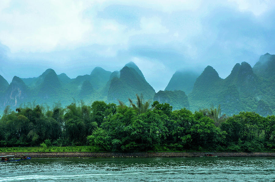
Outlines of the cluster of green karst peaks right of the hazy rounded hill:
{"type": "Polygon", "coordinates": [[[188,95],[191,110],[221,105],[228,115],[240,111],[253,111],[262,116],[275,112],[275,55],[262,55],[253,69],[247,62],[237,63],[230,75],[221,79],[207,66],[196,79],[193,91],[188,95]]]}

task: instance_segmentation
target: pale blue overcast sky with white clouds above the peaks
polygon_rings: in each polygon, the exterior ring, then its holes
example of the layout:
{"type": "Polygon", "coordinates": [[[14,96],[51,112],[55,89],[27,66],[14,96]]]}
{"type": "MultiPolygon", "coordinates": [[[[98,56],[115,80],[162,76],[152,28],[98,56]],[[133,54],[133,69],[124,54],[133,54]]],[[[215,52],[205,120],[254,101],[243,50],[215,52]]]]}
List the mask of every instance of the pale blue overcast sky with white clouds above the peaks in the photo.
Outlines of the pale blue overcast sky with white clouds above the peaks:
{"type": "Polygon", "coordinates": [[[133,61],[157,91],[176,70],[207,65],[226,78],[275,54],[273,0],[0,1],[0,75],[70,78],[133,61]]]}

